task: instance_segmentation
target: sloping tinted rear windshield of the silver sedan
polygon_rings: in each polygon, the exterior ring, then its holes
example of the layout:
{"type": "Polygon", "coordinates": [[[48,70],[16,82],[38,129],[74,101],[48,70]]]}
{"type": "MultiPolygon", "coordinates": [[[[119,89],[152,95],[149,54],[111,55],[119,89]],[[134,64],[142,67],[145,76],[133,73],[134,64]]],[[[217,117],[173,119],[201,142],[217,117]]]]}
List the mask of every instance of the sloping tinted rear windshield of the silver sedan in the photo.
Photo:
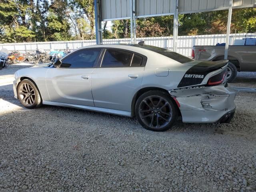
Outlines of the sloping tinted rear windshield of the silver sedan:
{"type": "Polygon", "coordinates": [[[134,46],[144,48],[144,49],[147,49],[147,50],[150,50],[150,51],[154,51],[158,54],[164,55],[164,56],[166,56],[168,58],[171,58],[175,61],[178,61],[180,63],[187,63],[187,62],[194,61],[193,59],[191,59],[189,57],[183,56],[181,54],[178,54],[176,52],[173,52],[173,51],[170,51],[170,50],[167,50],[167,49],[164,49],[164,48],[155,47],[155,46],[151,46],[151,45],[143,45],[142,46],[142,45],[139,45],[139,44],[135,44],[134,46]]]}

